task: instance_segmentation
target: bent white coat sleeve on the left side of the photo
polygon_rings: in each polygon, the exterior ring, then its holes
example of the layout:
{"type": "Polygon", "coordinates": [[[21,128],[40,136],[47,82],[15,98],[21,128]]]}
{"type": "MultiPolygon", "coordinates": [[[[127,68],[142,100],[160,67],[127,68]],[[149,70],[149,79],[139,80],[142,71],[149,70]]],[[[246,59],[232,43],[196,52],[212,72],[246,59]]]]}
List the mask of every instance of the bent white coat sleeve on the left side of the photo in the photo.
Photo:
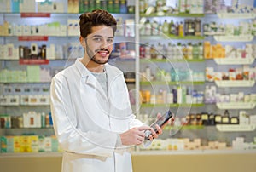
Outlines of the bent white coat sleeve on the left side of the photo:
{"type": "Polygon", "coordinates": [[[113,156],[118,134],[104,131],[82,132],[77,127],[76,111],[72,106],[67,78],[58,75],[52,79],[50,86],[51,112],[55,135],[61,148],[67,152],[113,156]]]}

